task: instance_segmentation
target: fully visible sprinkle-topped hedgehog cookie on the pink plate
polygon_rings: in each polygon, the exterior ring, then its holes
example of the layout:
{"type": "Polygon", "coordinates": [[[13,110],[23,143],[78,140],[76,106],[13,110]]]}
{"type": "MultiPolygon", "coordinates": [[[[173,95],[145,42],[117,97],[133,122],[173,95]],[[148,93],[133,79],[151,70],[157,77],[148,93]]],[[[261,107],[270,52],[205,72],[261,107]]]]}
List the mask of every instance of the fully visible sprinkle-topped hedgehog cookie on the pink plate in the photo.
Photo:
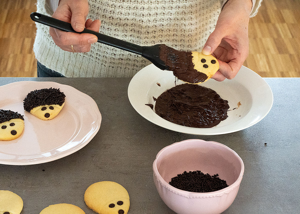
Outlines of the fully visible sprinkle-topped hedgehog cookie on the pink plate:
{"type": "Polygon", "coordinates": [[[35,90],[24,99],[24,109],[42,120],[51,120],[64,107],[65,97],[59,88],[35,90]]]}

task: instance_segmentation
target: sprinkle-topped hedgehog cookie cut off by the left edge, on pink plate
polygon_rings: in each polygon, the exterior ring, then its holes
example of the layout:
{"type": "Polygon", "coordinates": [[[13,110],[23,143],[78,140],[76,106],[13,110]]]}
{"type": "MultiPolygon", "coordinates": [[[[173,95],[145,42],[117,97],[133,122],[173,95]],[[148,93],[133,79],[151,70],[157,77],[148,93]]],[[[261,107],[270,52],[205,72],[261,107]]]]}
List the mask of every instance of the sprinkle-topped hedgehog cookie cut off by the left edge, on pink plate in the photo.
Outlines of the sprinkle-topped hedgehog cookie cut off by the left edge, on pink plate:
{"type": "Polygon", "coordinates": [[[24,130],[23,115],[18,112],[0,109],[0,140],[10,141],[18,138],[24,130]]]}

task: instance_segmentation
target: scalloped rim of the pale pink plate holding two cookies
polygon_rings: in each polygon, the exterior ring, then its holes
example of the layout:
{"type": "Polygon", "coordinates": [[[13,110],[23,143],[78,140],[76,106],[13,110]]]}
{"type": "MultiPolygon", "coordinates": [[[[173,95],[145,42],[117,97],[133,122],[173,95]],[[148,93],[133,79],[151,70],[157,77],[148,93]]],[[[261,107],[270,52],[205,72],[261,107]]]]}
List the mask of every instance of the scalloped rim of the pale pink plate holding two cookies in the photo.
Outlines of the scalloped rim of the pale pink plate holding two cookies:
{"type": "MultiPolygon", "coordinates": [[[[58,154],[55,154],[54,156],[49,156],[47,157],[46,159],[38,159],[38,160],[29,160],[29,161],[25,161],[25,162],[16,162],[16,161],[11,161],[11,162],[7,162],[7,161],[4,161],[3,159],[0,159],[0,164],[4,164],[4,165],[35,165],[35,164],[41,164],[41,163],[47,163],[47,162],[51,162],[51,161],[55,161],[55,160],[58,160],[58,159],[61,159],[61,158],[64,158],[70,154],[73,154],[75,152],[77,152],[78,150],[82,149],[83,147],[85,147],[94,137],[95,135],[98,133],[99,129],[100,129],[100,126],[101,126],[101,122],[102,122],[102,114],[98,108],[98,105],[97,103],[95,102],[95,100],[89,96],[88,94],[85,94],[83,93],[82,91],[79,91],[78,89],[74,88],[73,86],[70,86],[70,85],[66,85],[66,84],[61,84],[61,83],[58,83],[58,82],[53,82],[53,81],[17,81],[17,82],[11,82],[11,83],[8,83],[8,84],[5,84],[5,85],[1,85],[0,86],[0,89],[2,87],[7,87],[9,85],[14,85],[14,84],[26,84],[26,83],[32,83],[34,82],[33,84],[35,83],[45,83],[45,84],[54,84],[54,85],[62,85],[63,87],[67,87],[67,88],[70,88],[71,90],[75,90],[77,93],[83,95],[83,96],[86,96],[88,97],[88,99],[91,99],[91,104],[94,105],[95,107],[95,110],[97,113],[99,113],[97,115],[98,117],[98,125],[97,125],[97,128],[95,129],[95,131],[91,134],[91,136],[87,139],[85,139],[83,141],[83,143],[77,145],[76,147],[72,147],[71,149],[69,150],[65,150],[64,153],[58,153],[58,154]],[[98,111],[97,111],[98,110],[98,111]],[[42,160],[42,161],[41,161],[42,160]]],[[[46,87],[46,86],[45,86],[46,87]]],[[[52,87],[55,87],[55,86],[52,86],[52,87]]],[[[47,87],[46,87],[47,88],[47,87]]],[[[59,87],[60,88],[60,87],[59,87]]],[[[24,110],[25,111],[25,110],[24,110]]],[[[78,134],[78,133],[77,133],[78,134]]],[[[62,146],[62,145],[61,145],[62,146]]]]}

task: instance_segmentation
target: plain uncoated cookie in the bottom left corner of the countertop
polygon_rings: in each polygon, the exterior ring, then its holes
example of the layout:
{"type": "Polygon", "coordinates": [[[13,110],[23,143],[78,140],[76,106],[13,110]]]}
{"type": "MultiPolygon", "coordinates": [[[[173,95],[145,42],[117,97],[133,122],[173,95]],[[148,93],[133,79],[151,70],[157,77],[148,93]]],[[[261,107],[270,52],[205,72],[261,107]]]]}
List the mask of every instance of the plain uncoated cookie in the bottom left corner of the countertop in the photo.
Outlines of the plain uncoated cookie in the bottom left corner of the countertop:
{"type": "Polygon", "coordinates": [[[0,213],[20,214],[23,209],[23,200],[16,193],[0,190],[0,213]]]}

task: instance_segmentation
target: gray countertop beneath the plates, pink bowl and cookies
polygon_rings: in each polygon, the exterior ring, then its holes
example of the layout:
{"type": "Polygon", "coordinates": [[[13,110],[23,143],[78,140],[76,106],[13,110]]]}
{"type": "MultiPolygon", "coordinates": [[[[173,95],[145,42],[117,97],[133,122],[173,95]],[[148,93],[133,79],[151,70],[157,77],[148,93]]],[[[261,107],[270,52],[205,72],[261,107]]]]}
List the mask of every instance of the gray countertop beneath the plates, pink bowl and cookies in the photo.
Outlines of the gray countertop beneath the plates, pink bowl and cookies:
{"type": "Polygon", "coordinates": [[[158,195],[152,163],[163,147],[198,138],[225,144],[244,161],[238,195],[224,214],[300,213],[300,78],[264,79],[274,104],[263,120],[238,132],[199,136],[164,129],[140,116],[128,100],[130,78],[0,78],[0,85],[32,80],[73,86],[91,96],[102,114],[98,134],[76,153],[38,165],[0,165],[0,189],[23,199],[21,214],[58,203],[93,214],[83,200],[85,189],[111,180],[128,190],[129,214],[174,213],[158,195]]]}

